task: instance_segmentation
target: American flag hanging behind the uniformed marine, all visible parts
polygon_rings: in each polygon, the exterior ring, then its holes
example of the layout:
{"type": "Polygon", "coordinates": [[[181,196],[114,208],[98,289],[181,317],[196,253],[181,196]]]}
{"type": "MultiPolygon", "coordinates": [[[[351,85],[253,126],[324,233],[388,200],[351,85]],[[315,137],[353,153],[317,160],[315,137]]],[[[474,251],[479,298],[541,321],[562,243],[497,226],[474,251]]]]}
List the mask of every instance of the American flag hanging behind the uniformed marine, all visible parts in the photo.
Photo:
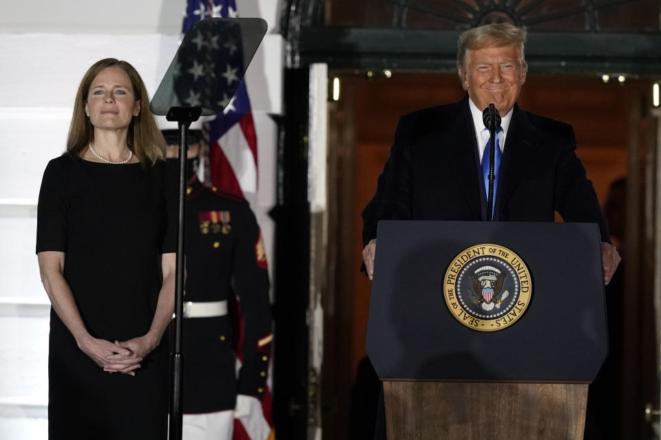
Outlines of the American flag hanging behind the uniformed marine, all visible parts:
{"type": "MultiPolygon", "coordinates": [[[[209,17],[237,17],[234,0],[188,0],[184,12],[182,33],[186,34],[194,23],[209,17]]],[[[200,41],[200,44],[205,44],[200,41]]],[[[241,48],[234,42],[207,41],[207,45],[219,45],[227,52],[223,59],[229,64],[221,78],[222,89],[230,85],[234,76],[242,73],[241,48]]],[[[191,67],[194,69],[194,66],[191,67]]],[[[205,78],[205,81],[207,78],[205,78]]],[[[240,81],[233,96],[224,96],[224,110],[209,122],[209,178],[211,185],[232,194],[251,199],[257,193],[257,136],[248,99],[248,92],[243,80],[240,81]]],[[[188,105],[194,105],[187,102],[188,105]]],[[[238,334],[242,335],[243,320],[238,312],[238,334]]],[[[235,344],[240,349],[241,344],[235,344]]],[[[242,356],[237,351],[238,363],[242,356]]],[[[274,439],[273,412],[271,394],[266,389],[259,408],[251,407],[250,415],[235,419],[233,440],[274,439]]]]}

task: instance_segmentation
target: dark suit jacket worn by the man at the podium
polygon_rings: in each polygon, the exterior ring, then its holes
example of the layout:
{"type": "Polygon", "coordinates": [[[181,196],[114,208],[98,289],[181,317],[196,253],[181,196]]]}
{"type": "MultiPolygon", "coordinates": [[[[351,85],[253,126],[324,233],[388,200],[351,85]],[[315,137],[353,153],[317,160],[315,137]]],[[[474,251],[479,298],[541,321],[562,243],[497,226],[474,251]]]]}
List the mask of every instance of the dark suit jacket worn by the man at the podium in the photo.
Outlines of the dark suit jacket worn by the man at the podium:
{"type": "MultiPolygon", "coordinates": [[[[479,127],[481,129],[482,127],[479,127]]],[[[377,192],[363,211],[363,244],[388,220],[486,219],[486,197],[468,95],[403,116],[377,192]]],[[[574,129],[514,105],[496,190],[494,220],[599,223],[594,186],[576,157],[574,129]]]]}

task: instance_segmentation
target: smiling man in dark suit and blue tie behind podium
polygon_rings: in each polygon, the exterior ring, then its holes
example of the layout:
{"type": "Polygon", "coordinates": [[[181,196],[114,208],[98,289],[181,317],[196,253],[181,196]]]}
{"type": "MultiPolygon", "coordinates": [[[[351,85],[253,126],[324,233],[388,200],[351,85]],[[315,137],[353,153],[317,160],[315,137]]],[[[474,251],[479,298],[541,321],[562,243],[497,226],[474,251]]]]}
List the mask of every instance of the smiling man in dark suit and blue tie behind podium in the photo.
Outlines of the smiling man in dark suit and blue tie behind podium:
{"type": "Polygon", "coordinates": [[[370,279],[379,220],[487,220],[490,133],[482,112],[494,103],[502,122],[496,134],[493,219],[554,221],[557,210],[565,221],[599,223],[604,282],[609,283],[620,256],[576,157],[574,129],[516,104],[527,72],[524,43],[525,31],[510,24],[463,32],[457,67],[468,96],[399,120],[377,192],[362,214],[370,279]]]}

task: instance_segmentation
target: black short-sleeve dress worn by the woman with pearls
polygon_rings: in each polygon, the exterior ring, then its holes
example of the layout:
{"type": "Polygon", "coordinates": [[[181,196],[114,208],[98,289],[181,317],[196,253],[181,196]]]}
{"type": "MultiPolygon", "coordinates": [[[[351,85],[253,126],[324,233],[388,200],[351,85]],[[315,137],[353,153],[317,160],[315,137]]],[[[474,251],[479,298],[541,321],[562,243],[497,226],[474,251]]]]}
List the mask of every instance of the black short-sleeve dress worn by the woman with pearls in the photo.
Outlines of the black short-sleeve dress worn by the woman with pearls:
{"type": "MultiPolygon", "coordinates": [[[[143,336],[176,248],[176,175],[165,162],[101,164],[62,155],[45,169],[36,252],[65,252],[64,276],[87,330],[143,336]]],[[[51,308],[48,432],[54,439],[165,439],[167,335],[135,376],[107,373],[51,308]]]]}

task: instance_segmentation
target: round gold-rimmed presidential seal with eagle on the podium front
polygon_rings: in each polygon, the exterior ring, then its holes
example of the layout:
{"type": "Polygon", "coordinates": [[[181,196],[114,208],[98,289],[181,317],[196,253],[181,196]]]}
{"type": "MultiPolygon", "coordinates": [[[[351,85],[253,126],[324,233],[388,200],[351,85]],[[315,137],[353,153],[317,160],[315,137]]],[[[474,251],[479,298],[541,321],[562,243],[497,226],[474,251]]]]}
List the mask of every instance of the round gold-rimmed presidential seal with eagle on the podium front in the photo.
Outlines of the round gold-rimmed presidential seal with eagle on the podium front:
{"type": "Polygon", "coordinates": [[[457,255],[443,278],[450,313],[466,327],[496,331],[521,318],[532,279],[520,256],[503,246],[474,245],[457,255]]]}

